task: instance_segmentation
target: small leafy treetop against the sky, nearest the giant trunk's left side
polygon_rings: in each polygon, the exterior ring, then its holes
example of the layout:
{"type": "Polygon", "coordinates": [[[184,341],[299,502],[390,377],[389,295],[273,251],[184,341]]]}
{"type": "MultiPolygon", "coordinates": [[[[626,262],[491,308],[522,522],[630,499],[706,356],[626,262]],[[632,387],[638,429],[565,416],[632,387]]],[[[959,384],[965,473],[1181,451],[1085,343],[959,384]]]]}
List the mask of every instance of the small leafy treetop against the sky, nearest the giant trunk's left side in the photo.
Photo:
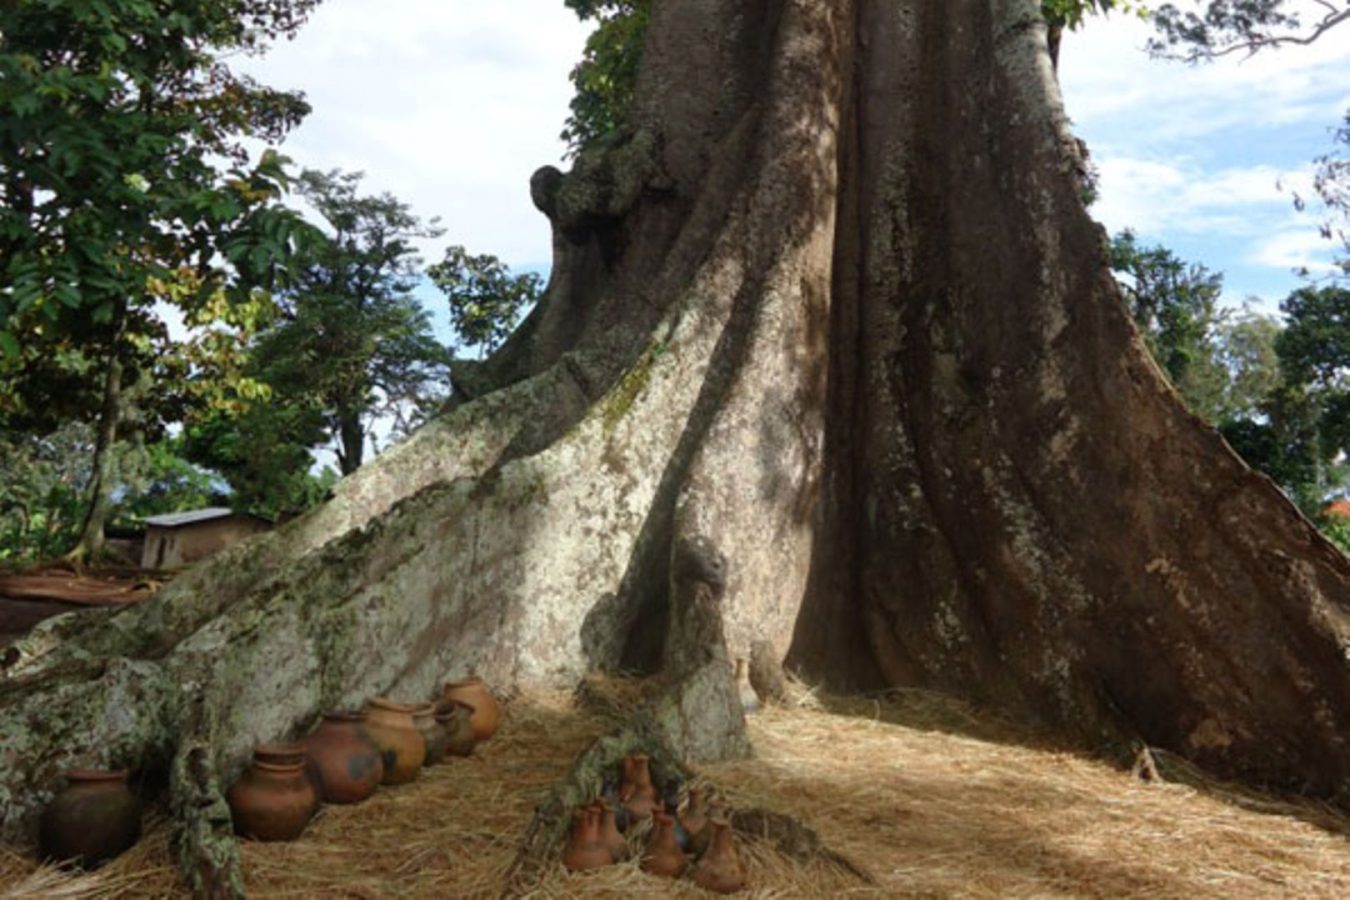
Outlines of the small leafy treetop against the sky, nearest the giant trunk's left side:
{"type": "Polygon", "coordinates": [[[497,256],[473,255],[459,246],[448,247],[427,275],[450,302],[459,344],[477,348],[479,356],[501,347],[544,290],[539,275],[512,274],[497,256]]]}

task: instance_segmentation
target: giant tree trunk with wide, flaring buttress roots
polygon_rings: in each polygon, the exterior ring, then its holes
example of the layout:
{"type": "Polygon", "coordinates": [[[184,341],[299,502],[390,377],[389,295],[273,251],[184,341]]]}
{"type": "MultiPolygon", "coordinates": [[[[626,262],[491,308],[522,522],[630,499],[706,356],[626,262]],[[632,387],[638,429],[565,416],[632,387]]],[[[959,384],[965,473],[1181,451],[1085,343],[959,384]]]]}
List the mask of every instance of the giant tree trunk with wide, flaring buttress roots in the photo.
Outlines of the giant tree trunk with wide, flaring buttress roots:
{"type": "Polygon", "coordinates": [[[475,399],[4,661],[4,834],[66,765],[167,769],[230,893],[221,788],[323,707],[637,669],[717,758],[757,641],[1345,799],[1350,565],[1143,351],[1038,4],[652,15],[630,132],[532,182],[552,282],[475,399]]]}

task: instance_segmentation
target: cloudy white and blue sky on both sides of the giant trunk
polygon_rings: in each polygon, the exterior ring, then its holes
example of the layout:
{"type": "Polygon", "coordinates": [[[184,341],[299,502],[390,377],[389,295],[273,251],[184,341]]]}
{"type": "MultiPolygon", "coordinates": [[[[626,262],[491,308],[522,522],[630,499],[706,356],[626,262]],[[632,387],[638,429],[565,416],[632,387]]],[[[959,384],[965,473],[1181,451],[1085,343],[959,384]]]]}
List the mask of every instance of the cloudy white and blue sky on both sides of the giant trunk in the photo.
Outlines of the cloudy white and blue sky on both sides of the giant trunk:
{"type": "MultiPolygon", "coordinates": [[[[1350,28],[1199,67],[1150,59],[1148,34],[1116,15],[1064,43],[1065,104],[1102,173],[1092,212],[1223,271],[1226,302],[1273,312],[1295,267],[1330,260],[1289,190],[1307,192],[1350,107],[1350,28]]],[[[325,0],[293,42],[240,67],[308,94],[315,111],[282,148],[297,165],[362,170],[369,190],[441,219],[429,260],[459,243],[541,270],[548,224],[528,182],[562,161],[585,39],[562,0],[325,0]]]]}

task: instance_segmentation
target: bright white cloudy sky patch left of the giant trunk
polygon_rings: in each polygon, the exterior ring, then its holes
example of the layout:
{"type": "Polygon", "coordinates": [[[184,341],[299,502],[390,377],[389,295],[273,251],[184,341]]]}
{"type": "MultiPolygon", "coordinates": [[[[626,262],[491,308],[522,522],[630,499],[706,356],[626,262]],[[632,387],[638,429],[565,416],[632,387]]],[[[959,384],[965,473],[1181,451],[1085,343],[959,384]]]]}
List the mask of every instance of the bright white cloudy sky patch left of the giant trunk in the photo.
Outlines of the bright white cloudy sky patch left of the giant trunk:
{"type": "Polygon", "coordinates": [[[560,0],[327,0],[294,42],[240,67],[301,89],[313,113],[282,151],[363,170],[446,236],[510,263],[547,263],[529,175],[558,140],[586,30],[560,0]]]}

